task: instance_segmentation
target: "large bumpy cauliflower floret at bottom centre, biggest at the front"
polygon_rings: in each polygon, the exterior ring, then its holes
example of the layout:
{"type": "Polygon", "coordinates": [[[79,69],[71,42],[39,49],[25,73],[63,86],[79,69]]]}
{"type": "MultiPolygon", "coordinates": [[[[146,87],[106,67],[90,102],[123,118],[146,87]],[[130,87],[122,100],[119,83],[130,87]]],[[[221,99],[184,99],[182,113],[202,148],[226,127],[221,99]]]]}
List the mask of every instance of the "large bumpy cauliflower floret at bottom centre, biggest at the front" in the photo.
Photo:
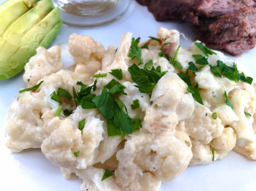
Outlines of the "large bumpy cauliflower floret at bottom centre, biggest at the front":
{"type": "MultiPolygon", "coordinates": [[[[116,155],[119,161],[115,171],[117,183],[144,190],[139,180],[146,172],[170,181],[184,171],[192,158],[191,142],[184,132],[173,133],[171,129],[129,136],[124,149],[116,155]]],[[[156,190],[156,187],[149,190],[156,190]]]]}

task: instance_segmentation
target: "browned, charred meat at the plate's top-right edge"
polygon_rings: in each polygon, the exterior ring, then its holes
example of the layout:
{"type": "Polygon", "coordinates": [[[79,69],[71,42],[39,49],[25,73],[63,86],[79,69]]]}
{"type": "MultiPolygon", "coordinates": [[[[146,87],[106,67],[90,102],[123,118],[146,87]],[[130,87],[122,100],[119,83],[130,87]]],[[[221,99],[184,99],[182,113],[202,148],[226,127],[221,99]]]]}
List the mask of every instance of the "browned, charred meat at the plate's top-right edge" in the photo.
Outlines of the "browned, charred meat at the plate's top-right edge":
{"type": "Polygon", "coordinates": [[[256,44],[256,0],[137,0],[156,20],[184,20],[211,48],[239,55],[256,44]]]}

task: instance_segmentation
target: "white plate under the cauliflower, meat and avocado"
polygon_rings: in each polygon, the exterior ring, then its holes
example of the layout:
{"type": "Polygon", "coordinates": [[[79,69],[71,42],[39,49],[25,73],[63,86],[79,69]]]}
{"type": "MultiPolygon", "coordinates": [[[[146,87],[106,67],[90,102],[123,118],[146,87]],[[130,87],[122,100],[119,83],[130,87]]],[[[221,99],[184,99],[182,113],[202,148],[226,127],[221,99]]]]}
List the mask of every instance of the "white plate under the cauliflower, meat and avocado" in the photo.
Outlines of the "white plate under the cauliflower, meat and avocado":
{"type": "MultiPolygon", "coordinates": [[[[2,2],[3,0],[0,0],[2,2]]],[[[91,35],[96,41],[117,47],[121,34],[131,31],[134,37],[156,36],[159,27],[173,28],[184,33],[187,41],[181,40],[183,47],[194,40],[192,31],[179,22],[156,22],[146,7],[132,0],[128,12],[119,20],[102,27],[71,28],[62,27],[52,44],[67,43],[72,33],[91,35]]],[[[256,76],[256,48],[235,59],[242,61],[256,76]]],[[[64,58],[65,60],[65,58],[64,58]]],[[[29,149],[10,154],[4,146],[3,119],[7,107],[20,88],[25,88],[22,73],[8,80],[0,80],[0,191],[79,191],[82,180],[72,177],[65,180],[59,167],[53,165],[40,149],[29,149]]],[[[28,114],[29,115],[29,114],[28,114]]],[[[172,182],[164,182],[161,191],[255,191],[256,162],[231,151],[223,160],[212,164],[189,166],[172,182]]]]}

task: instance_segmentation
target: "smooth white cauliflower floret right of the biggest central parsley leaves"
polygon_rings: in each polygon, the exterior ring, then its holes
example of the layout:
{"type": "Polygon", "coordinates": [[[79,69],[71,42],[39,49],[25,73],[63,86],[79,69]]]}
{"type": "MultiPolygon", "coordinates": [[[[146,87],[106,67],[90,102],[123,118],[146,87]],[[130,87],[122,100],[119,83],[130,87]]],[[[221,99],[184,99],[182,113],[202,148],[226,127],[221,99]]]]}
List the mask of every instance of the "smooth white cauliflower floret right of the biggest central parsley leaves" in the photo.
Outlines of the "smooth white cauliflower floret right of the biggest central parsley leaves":
{"type": "Polygon", "coordinates": [[[194,100],[186,91],[187,84],[177,74],[168,72],[152,91],[152,105],[159,108],[164,116],[176,114],[178,121],[189,118],[194,110],[194,100]]]}

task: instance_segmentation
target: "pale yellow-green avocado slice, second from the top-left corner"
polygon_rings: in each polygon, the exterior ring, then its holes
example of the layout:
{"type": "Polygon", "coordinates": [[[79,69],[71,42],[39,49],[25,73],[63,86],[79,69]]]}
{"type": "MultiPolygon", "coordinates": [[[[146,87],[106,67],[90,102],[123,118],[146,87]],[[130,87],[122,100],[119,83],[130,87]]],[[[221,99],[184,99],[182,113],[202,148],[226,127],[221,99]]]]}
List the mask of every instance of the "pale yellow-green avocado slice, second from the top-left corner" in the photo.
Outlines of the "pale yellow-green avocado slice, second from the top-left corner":
{"type": "Polygon", "coordinates": [[[39,2],[7,27],[2,37],[9,42],[19,44],[21,38],[52,9],[54,9],[54,6],[51,0],[39,2]]]}

